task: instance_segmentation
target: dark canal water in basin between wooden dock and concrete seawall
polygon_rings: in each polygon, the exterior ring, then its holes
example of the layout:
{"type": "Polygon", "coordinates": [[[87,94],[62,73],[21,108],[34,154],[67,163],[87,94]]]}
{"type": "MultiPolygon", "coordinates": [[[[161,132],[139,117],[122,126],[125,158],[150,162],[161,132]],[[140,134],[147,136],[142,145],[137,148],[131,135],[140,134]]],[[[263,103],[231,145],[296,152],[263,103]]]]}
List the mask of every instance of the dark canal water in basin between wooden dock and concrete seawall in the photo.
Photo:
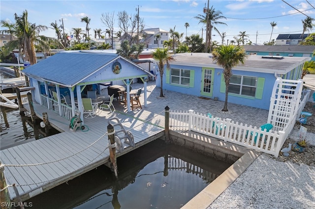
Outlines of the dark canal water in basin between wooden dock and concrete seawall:
{"type": "Polygon", "coordinates": [[[157,139],[26,201],[33,209],[179,209],[231,164],[157,139]]]}

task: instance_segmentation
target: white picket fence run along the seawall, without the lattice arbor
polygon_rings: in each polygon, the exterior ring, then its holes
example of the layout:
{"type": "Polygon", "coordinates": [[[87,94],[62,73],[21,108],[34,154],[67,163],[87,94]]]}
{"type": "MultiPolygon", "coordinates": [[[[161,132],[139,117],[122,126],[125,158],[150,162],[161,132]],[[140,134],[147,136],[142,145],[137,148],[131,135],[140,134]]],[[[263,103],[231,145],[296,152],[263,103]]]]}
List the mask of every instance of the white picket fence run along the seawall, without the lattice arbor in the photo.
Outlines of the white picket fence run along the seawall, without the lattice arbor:
{"type": "Polygon", "coordinates": [[[261,131],[260,127],[234,122],[231,119],[209,117],[206,114],[189,111],[170,111],[170,129],[173,131],[194,131],[232,142],[278,157],[284,142],[284,131],[261,131]],[[256,137],[255,137],[256,136],[256,137]],[[256,139],[256,140],[255,140],[256,139]]]}

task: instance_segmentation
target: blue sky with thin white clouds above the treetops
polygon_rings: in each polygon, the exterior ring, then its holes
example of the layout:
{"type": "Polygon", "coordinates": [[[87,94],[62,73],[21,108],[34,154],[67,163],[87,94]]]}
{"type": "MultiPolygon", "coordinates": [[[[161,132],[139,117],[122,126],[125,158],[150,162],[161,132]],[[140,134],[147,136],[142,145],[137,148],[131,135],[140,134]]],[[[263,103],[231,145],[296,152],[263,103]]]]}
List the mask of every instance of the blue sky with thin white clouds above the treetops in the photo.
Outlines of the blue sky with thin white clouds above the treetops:
{"type": "MultiPolygon", "coordinates": [[[[126,10],[136,14],[139,6],[139,16],[144,19],[145,28],[159,27],[169,31],[175,27],[175,31],[186,36],[185,23],[189,23],[187,35],[202,34],[202,24],[194,17],[203,14],[203,7],[207,0],[1,0],[0,19],[9,19],[14,22],[14,13],[21,15],[28,11],[29,21],[36,25],[50,26],[51,23],[63,19],[65,32],[70,34],[71,28],[82,27],[85,23],[81,18],[91,18],[90,34],[94,34],[95,28],[106,27],[100,21],[101,15],[126,10]]],[[[294,8],[304,14],[315,18],[314,0],[285,0],[294,8]],[[310,5],[312,4],[312,5],[310,5]],[[313,7],[312,7],[313,6],[313,7]]],[[[227,24],[217,25],[218,30],[226,32],[226,40],[233,40],[240,31],[246,31],[253,43],[263,44],[268,42],[271,35],[271,22],[276,22],[272,39],[276,39],[281,33],[302,33],[302,20],[306,16],[286,4],[282,0],[210,0],[209,7],[213,5],[216,10],[222,12],[221,22],[227,24]],[[257,34],[257,35],[256,35],[257,34]]],[[[118,31],[118,20],[115,21],[114,31],[118,31]]],[[[3,28],[1,28],[3,29],[3,28]]],[[[315,28],[311,31],[315,32],[315,28]]],[[[215,31],[213,40],[221,43],[221,38],[215,31]]],[[[53,29],[41,32],[41,35],[56,37],[53,29]]]]}

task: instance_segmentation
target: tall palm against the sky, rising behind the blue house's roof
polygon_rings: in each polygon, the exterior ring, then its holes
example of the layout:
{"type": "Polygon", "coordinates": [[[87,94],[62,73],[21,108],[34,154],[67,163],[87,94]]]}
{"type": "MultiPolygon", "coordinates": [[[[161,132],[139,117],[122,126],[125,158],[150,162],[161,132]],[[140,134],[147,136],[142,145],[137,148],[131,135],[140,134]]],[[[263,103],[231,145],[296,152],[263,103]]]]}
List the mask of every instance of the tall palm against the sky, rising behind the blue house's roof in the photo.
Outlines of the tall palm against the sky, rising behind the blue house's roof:
{"type": "MultiPolygon", "coordinates": [[[[211,8],[208,10],[205,10],[206,12],[206,16],[204,15],[198,15],[194,18],[199,20],[199,23],[202,24],[206,24],[207,25],[207,15],[208,15],[208,26],[209,26],[209,31],[208,31],[208,40],[206,40],[206,43],[209,43],[209,49],[211,49],[211,33],[212,33],[212,29],[214,29],[215,31],[217,31],[219,34],[219,30],[215,27],[215,25],[225,25],[227,26],[225,23],[220,22],[220,19],[226,19],[226,17],[222,16],[222,12],[220,10],[216,11],[215,8],[213,8],[213,6],[211,6],[211,8]]],[[[206,49],[206,52],[208,52],[209,49],[206,49]]]]}

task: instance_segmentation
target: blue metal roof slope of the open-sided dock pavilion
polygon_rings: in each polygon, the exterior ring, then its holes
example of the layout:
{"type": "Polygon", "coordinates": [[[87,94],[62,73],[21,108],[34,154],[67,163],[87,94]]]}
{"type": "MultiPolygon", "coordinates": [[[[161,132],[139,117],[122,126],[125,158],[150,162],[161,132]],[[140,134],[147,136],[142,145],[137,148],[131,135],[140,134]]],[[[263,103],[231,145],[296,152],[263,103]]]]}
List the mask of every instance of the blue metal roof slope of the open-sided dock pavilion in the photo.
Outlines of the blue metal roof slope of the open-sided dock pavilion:
{"type": "Polygon", "coordinates": [[[23,72],[29,77],[75,86],[83,78],[118,57],[121,56],[114,53],[59,52],[24,69],[23,72]]]}

